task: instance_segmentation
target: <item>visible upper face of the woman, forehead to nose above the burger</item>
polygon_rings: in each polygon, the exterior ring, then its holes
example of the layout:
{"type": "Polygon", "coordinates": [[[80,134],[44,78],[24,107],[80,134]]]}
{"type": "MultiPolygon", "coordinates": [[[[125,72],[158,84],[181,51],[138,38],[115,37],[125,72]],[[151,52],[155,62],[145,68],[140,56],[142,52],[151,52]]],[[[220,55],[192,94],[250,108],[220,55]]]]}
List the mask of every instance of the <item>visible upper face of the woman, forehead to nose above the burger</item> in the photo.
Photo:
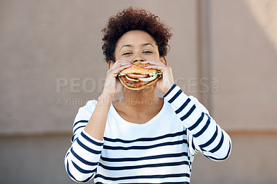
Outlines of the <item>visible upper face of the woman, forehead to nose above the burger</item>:
{"type": "Polygon", "coordinates": [[[114,55],[116,61],[143,62],[160,59],[155,40],[143,30],[130,30],[120,37],[114,55]]]}

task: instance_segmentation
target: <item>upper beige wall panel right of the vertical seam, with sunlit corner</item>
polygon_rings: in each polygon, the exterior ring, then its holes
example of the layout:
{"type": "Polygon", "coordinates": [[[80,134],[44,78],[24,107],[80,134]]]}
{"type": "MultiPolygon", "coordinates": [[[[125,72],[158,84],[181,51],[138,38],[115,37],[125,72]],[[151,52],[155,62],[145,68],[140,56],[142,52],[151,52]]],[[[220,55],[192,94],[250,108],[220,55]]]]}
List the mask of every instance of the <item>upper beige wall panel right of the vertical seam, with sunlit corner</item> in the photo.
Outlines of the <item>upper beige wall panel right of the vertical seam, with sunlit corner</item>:
{"type": "Polygon", "coordinates": [[[215,116],[228,129],[276,130],[277,1],[212,2],[215,116]]]}

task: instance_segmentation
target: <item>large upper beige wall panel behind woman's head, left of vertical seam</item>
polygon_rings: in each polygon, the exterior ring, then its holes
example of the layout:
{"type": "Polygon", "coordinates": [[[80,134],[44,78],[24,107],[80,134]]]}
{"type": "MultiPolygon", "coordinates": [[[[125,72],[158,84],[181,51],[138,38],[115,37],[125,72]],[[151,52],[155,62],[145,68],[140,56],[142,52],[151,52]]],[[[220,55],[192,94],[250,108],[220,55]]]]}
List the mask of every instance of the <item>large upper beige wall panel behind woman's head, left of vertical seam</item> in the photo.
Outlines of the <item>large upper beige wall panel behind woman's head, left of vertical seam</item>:
{"type": "Polygon", "coordinates": [[[100,2],[0,1],[0,133],[71,131],[80,105],[102,91],[107,64],[100,30],[128,6],[148,8],[174,28],[168,62],[175,77],[184,86],[197,77],[193,1],[100,2]]]}

